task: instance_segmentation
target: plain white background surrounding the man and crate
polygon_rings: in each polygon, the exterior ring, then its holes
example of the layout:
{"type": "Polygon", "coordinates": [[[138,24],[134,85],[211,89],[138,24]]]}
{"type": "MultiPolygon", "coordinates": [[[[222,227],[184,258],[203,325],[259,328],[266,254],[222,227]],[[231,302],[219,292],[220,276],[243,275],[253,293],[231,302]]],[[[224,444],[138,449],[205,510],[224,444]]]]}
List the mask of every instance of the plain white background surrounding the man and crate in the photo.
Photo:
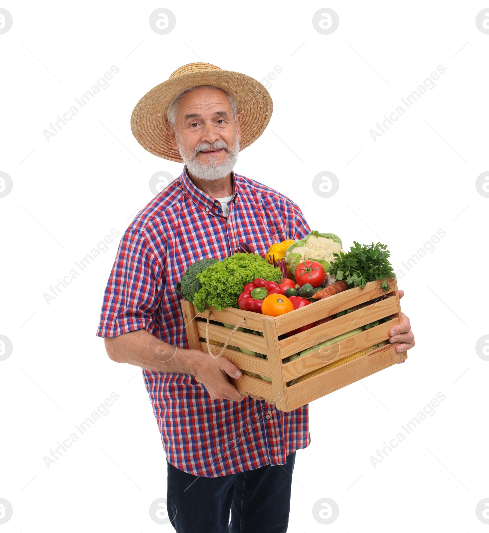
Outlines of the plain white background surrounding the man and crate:
{"type": "Polygon", "coordinates": [[[0,171],[13,182],[0,198],[0,334],[13,343],[0,361],[0,497],[13,506],[1,531],[173,530],[148,512],[166,496],[166,461],[141,370],[109,360],[95,336],[120,236],[49,305],[43,294],[112,228],[122,234],[152,199],[155,172],[180,174],[140,147],[129,118],[144,93],[201,60],[257,80],[283,69],[270,127],[236,171],[285,193],[345,248],[384,241],[405,273],[417,345],[405,364],[311,403],[289,531],[487,531],[475,513],[489,497],[489,362],[475,350],[489,333],[489,199],[475,187],[489,167],[489,35],[475,24],[487,2],[0,7],[13,17],[0,35],[0,171]],[[176,17],[167,35],[148,22],[162,6],[176,17]],[[312,25],[322,7],[339,16],[330,35],[312,25]],[[47,142],[43,130],[112,65],[107,90],[47,142]],[[369,131],[439,65],[436,86],[374,142],[369,131]],[[338,176],[331,198],[313,192],[322,171],[338,176]],[[403,268],[440,228],[435,251],[403,268]],[[109,414],[48,469],[43,457],[112,391],[109,414]],[[374,468],[370,456],[439,391],[436,413],[374,468]],[[340,510],[329,526],[312,514],[324,497],[340,510]]]}

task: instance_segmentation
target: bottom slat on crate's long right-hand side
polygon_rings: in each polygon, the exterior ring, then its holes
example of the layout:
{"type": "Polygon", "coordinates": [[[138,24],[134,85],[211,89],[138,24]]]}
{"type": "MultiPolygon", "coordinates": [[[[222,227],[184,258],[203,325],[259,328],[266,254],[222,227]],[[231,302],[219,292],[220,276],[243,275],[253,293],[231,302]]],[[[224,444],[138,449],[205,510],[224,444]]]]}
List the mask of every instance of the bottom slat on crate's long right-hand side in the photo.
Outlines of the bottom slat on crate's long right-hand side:
{"type": "Polygon", "coordinates": [[[406,352],[397,353],[395,344],[389,344],[375,352],[366,353],[343,365],[326,370],[322,374],[288,387],[289,409],[297,409],[379,370],[400,363],[406,358],[406,352]]]}

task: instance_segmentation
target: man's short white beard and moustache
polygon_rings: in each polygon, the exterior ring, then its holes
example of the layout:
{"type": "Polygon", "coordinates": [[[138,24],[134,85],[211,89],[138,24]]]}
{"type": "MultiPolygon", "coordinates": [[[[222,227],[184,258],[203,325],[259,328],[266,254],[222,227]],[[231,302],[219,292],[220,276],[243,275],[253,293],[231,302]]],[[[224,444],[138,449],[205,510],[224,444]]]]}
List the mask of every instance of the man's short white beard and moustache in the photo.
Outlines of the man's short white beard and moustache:
{"type": "Polygon", "coordinates": [[[186,167],[189,169],[191,174],[199,177],[201,180],[216,181],[222,179],[224,176],[227,176],[227,174],[232,171],[234,165],[236,164],[236,161],[238,160],[238,133],[236,133],[236,137],[234,140],[234,150],[230,150],[224,141],[215,141],[213,143],[205,142],[195,147],[194,153],[190,155],[184,153],[180,141],[178,141],[178,138],[176,138],[176,141],[178,144],[178,151],[180,152],[180,155],[184,160],[186,167]],[[217,164],[217,156],[207,156],[209,160],[208,164],[200,163],[200,161],[196,157],[198,152],[201,150],[219,150],[221,148],[224,148],[227,151],[226,160],[221,164],[217,164]]]}

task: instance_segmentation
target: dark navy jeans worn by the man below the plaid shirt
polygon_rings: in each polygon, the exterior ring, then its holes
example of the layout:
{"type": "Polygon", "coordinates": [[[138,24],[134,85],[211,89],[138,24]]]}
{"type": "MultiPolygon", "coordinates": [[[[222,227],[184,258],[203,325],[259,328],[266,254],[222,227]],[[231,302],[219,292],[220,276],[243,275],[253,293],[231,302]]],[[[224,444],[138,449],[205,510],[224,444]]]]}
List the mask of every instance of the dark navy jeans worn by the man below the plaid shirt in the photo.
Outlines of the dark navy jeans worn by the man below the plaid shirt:
{"type": "Polygon", "coordinates": [[[167,510],[177,533],[286,533],[296,453],[287,464],[203,478],[168,463],[167,510]],[[229,513],[231,510],[231,524],[229,513]]]}

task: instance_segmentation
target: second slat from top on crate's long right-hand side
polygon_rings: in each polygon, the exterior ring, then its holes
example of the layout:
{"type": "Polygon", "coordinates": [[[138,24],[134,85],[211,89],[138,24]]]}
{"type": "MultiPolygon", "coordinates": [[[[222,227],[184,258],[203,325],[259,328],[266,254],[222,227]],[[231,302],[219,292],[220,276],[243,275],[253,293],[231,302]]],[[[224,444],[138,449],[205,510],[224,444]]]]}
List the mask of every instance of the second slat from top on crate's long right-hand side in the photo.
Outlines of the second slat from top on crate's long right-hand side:
{"type": "Polygon", "coordinates": [[[300,332],[291,337],[282,339],[279,341],[280,354],[283,359],[294,353],[306,350],[315,344],[337,337],[341,333],[346,333],[352,329],[359,328],[360,326],[365,326],[365,324],[370,324],[370,322],[374,322],[380,318],[386,318],[396,312],[396,298],[394,296],[388,296],[385,300],[373,303],[365,308],[358,309],[357,311],[344,314],[343,317],[335,318],[325,324],[320,324],[319,326],[307,329],[305,332],[300,332]]]}

